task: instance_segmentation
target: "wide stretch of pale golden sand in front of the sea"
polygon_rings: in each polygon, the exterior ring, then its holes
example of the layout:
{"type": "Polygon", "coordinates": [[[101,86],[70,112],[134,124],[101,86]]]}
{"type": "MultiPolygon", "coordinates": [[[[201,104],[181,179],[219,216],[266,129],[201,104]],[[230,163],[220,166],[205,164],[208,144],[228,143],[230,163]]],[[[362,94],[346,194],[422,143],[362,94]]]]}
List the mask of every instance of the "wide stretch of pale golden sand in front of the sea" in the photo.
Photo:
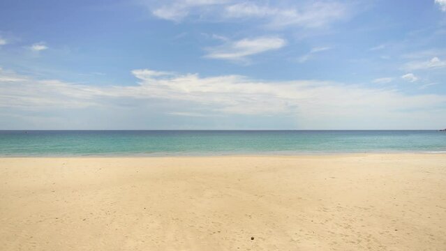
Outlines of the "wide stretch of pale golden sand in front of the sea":
{"type": "Polygon", "coordinates": [[[0,250],[446,250],[446,155],[0,158],[0,250]]]}

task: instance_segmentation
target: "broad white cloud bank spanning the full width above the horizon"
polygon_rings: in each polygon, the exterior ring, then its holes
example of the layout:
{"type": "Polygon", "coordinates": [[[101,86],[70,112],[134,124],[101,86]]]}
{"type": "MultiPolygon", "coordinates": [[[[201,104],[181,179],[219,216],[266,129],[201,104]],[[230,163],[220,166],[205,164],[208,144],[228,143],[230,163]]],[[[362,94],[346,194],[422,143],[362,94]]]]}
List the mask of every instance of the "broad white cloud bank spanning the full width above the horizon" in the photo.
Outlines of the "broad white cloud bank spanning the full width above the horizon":
{"type": "MultiPolygon", "coordinates": [[[[29,112],[46,114],[54,109],[67,116],[73,111],[94,109],[121,109],[127,115],[134,112],[135,107],[153,107],[165,102],[170,105],[158,113],[204,118],[206,114],[293,116],[299,121],[299,128],[361,125],[363,128],[407,128],[420,121],[431,128],[433,122],[437,125],[446,122],[444,117],[438,116],[446,112],[444,95],[408,95],[396,90],[334,82],[260,81],[237,75],[200,77],[142,69],[133,70],[133,75],[139,79],[133,86],[89,86],[38,80],[3,71],[0,75],[0,79],[20,79],[15,82],[0,80],[0,109],[25,114],[23,116],[29,112]]],[[[112,113],[113,118],[120,115],[112,113]]]]}

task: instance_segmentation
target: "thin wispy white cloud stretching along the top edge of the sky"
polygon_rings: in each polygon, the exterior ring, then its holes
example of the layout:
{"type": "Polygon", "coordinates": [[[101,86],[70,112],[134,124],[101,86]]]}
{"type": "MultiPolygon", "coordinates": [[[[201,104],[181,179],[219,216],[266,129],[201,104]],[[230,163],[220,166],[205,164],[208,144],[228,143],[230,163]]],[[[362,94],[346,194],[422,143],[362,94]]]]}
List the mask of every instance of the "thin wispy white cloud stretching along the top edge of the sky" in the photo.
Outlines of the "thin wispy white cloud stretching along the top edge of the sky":
{"type": "Polygon", "coordinates": [[[151,8],[156,17],[174,22],[181,22],[188,16],[195,15],[209,20],[262,20],[271,28],[285,26],[302,26],[315,28],[326,26],[342,20],[350,13],[349,6],[336,1],[320,1],[315,3],[274,7],[270,4],[260,5],[254,2],[237,1],[168,1],[163,6],[151,8]]]}

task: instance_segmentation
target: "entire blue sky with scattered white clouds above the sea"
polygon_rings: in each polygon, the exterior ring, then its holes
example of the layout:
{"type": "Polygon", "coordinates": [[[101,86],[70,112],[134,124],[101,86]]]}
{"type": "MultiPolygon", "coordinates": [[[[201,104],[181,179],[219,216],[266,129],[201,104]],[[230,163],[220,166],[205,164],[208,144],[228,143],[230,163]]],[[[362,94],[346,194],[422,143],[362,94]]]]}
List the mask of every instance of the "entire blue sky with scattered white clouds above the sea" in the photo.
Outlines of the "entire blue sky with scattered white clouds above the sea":
{"type": "Polygon", "coordinates": [[[0,0],[0,130],[446,128],[446,0],[0,0]]]}

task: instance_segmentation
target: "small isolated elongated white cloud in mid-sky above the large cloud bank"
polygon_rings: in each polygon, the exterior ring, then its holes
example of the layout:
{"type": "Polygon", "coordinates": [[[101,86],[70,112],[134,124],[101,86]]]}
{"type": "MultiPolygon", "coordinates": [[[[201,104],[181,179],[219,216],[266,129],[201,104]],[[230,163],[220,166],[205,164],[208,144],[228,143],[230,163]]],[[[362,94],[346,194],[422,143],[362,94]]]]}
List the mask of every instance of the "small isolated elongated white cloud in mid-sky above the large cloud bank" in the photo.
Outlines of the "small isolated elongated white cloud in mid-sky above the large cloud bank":
{"type": "Polygon", "coordinates": [[[260,54],[270,50],[278,50],[286,45],[286,40],[278,37],[244,38],[225,43],[218,47],[207,48],[205,57],[210,59],[226,59],[246,61],[247,56],[260,54]]]}

